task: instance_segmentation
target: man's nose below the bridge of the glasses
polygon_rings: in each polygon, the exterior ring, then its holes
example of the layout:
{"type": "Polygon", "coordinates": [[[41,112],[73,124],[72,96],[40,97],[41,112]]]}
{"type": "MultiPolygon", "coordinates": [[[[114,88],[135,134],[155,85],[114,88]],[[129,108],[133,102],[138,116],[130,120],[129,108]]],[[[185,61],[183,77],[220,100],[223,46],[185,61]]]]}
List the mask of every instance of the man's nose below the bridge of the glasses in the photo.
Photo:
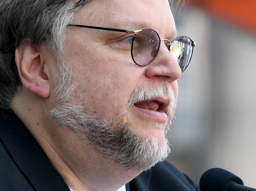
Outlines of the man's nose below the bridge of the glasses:
{"type": "Polygon", "coordinates": [[[180,66],[163,42],[161,42],[158,55],[154,61],[147,66],[145,75],[147,78],[154,80],[162,79],[169,82],[180,78],[180,66]]]}

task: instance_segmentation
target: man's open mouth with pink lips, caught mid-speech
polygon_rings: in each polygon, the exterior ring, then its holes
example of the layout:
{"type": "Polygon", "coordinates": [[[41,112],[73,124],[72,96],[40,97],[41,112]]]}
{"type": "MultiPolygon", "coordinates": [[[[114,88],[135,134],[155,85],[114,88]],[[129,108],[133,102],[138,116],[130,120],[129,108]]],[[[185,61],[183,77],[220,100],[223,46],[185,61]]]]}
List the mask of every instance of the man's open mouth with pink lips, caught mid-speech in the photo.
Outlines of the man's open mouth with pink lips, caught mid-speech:
{"type": "Polygon", "coordinates": [[[134,106],[139,111],[141,117],[166,123],[168,121],[167,107],[170,101],[168,97],[159,97],[135,103],[134,106]]]}

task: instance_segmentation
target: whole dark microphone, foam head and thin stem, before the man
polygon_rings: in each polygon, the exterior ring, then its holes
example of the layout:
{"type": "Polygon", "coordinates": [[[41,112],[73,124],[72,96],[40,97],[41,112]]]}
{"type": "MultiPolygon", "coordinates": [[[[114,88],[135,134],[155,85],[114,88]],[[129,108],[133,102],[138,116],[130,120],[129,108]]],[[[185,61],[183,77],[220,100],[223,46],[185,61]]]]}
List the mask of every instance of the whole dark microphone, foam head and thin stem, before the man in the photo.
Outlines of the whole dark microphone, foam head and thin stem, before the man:
{"type": "Polygon", "coordinates": [[[206,171],[200,178],[199,187],[201,191],[256,191],[243,186],[241,178],[221,168],[206,171]]]}

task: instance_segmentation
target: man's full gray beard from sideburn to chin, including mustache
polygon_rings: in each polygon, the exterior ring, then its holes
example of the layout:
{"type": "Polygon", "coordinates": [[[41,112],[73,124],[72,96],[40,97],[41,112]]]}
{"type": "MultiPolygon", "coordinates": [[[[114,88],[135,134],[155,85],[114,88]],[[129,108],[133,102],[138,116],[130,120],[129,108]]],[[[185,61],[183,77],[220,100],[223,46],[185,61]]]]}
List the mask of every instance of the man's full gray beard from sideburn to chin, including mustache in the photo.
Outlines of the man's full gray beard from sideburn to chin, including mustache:
{"type": "MultiPolygon", "coordinates": [[[[78,101],[81,96],[74,93],[77,85],[74,83],[75,75],[72,71],[60,66],[58,78],[59,85],[55,89],[55,104],[49,111],[50,116],[61,126],[79,132],[96,151],[104,153],[120,165],[139,171],[150,169],[169,155],[171,150],[167,141],[167,131],[165,131],[163,140],[157,137],[137,135],[131,130],[130,125],[123,121],[123,118],[134,103],[168,94],[171,97],[167,112],[169,119],[167,127],[169,128],[173,118],[172,111],[176,105],[171,85],[147,89],[137,88],[127,106],[121,109],[115,119],[101,120],[98,116],[92,115],[92,109],[80,104],[82,100],[78,101]]],[[[165,127],[157,124],[156,128],[165,127]]]]}

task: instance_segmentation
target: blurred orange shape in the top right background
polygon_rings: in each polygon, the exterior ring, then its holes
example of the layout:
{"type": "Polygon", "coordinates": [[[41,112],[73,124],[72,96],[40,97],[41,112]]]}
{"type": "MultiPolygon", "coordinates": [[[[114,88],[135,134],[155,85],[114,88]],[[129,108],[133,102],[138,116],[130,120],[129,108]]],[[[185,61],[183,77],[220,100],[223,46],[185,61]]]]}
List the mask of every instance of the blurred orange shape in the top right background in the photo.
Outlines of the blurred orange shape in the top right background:
{"type": "Polygon", "coordinates": [[[188,0],[211,15],[256,34],[256,0],[188,0]]]}

